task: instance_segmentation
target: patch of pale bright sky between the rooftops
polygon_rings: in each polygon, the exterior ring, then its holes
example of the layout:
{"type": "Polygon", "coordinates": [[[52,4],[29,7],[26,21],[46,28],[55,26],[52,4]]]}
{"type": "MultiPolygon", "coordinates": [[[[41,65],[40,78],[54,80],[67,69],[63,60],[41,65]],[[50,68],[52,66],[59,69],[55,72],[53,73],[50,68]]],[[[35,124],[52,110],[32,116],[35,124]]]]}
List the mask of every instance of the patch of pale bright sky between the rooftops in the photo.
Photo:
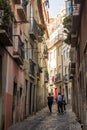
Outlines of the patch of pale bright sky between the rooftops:
{"type": "Polygon", "coordinates": [[[65,0],[49,0],[49,16],[55,17],[65,6],[65,0]]]}

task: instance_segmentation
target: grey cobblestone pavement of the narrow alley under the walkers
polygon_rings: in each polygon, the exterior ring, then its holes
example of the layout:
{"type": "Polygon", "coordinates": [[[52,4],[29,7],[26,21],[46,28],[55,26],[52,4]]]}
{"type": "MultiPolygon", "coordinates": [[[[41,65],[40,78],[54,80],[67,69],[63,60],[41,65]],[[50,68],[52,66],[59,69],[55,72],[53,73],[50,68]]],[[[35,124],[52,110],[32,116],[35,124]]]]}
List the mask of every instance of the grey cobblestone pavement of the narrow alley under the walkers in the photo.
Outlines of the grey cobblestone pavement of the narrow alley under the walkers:
{"type": "Polygon", "coordinates": [[[48,108],[44,108],[36,115],[28,117],[8,130],[81,130],[81,126],[68,105],[66,112],[63,114],[58,114],[57,106],[53,105],[51,114],[48,108]]]}

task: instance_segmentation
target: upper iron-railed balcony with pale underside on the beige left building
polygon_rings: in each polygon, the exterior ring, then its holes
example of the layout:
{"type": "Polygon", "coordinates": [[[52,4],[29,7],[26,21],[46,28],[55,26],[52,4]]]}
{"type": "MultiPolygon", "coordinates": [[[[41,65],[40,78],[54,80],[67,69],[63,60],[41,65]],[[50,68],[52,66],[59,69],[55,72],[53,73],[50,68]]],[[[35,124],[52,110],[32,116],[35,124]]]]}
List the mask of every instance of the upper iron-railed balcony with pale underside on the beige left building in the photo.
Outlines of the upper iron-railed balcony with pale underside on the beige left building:
{"type": "Polygon", "coordinates": [[[33,40],[38,37],[38,24],[34,18],[30,18],[30,36],[33,40]]]}

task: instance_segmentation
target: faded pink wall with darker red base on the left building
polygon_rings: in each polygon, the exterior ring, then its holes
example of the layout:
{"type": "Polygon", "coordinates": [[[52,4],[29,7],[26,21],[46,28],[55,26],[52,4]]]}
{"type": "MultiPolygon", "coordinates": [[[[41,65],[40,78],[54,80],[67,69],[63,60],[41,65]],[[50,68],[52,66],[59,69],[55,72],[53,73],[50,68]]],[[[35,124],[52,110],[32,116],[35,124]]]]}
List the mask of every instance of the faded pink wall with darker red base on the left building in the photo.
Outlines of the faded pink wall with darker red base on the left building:
{"type": "MultiPolygon", "coordinates": [[[[20,69],[20,67],[16,64],[16,62],[9,57],[9,66],[8,66],[8,89],[6,88],[5,95],[5,130],[12,125],[12,95],[13,95],[13,84],[14,79],[17,79],[17,85],[22,85],[24,88],[24,72],[20,69]]],[[[17,86],[18,87],[18,86],[17,86]]],[[[24,102],[22,102],[22,107],[24,107],[24,102]]],[[[17,106],[16,106],[17,108],[17,106]]],[[[23,110],[21,113],[21,118],[23,119],[23,110]]]]}

